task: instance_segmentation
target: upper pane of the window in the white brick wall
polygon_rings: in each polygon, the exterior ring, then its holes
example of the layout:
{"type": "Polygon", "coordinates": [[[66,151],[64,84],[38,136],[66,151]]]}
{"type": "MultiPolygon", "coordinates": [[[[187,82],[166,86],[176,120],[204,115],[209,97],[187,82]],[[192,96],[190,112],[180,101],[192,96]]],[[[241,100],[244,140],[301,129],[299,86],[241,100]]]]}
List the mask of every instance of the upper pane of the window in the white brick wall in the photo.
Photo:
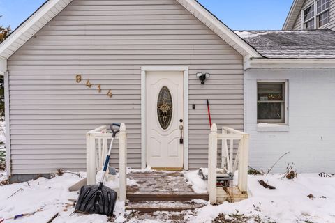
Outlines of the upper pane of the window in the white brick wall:
{"type": "Polygon", "coordinates": [[[258,84],[258,100],[283,100],[283,84],[258,84]]]}

